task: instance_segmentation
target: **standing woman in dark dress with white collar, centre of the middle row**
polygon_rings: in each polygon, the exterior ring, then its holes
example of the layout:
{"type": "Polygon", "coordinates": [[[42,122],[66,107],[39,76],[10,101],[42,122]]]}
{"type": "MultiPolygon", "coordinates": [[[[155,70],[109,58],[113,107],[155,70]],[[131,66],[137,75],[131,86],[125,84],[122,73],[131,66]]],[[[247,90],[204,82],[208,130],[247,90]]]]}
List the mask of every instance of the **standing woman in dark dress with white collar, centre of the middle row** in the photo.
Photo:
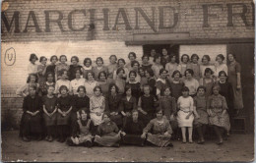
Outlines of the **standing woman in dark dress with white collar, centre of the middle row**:
{"type": "Polygon", "coordinates": [[[139,100],[139,97],[141,95],[141,83],[136,81],[137,73],[135,71],[131,71],[129,73],[129,81],[125,83],[125,85],[130,85],[132,88],[132,96],[136,98],[136,100],[139,100]]]}

